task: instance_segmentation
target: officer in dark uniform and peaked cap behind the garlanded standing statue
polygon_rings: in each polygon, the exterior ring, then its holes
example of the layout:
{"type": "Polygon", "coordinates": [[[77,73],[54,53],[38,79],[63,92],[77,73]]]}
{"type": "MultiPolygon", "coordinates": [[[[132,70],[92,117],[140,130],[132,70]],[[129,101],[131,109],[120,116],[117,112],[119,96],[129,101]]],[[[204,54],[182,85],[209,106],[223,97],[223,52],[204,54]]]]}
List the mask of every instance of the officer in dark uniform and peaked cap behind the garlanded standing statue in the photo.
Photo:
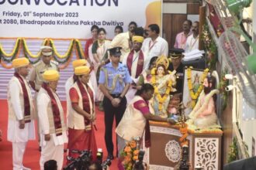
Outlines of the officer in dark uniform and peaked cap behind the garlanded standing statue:
{"type": "Polygon", "coordinates": [[[171,94],[179,93],[182,94],[183,90],[183,80],[184,80],[184,65],[182,64],[182,53],[184,49],[170,49],[169,55],[171,57],[171,64],[168,67],[168,70],[171,72],[176,70],[176,85],[175,89],[177,91],[171,92],[171,94]]]}

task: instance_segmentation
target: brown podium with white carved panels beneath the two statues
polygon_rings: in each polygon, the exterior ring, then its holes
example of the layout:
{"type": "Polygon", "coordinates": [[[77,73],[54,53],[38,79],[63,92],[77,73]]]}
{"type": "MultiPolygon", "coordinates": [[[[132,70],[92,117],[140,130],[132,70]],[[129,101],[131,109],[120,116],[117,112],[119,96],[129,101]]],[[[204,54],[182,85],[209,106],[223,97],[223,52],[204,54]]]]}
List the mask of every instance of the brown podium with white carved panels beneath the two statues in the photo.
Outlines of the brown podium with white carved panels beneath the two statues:
{"type": "MultiPolygon", "coordinates": [[[[190,168],[220,169],[223,131],[189,131],[190,168]]],[[[144,162],[150,169],[175,169],[182,156],[178,126],[150,121],[151,147],[144,148],[144,162]]],[[[144,140],[143,140],[144,141],[144,140]]],[[[144,144],[143,144],[144,147],[144,144]]]]}

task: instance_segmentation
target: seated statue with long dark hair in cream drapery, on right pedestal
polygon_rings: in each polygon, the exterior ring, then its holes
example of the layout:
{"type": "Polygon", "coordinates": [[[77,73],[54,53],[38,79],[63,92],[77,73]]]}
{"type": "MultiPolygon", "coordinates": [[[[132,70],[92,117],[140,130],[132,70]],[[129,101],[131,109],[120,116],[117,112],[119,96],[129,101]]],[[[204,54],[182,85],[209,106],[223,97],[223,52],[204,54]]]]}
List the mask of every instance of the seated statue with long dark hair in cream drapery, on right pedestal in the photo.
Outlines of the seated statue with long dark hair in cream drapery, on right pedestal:
{"type": "Polygon", "coordinates": [[[203,81],[204,89],[200,93],[199,99],[189,114],[191,120],[187,123],[189,126],[195,125],[196,128],[211,128],[217,124],[218,118],[215,110],[216,93],[219,90],[215,89],[216,79],[214,76],[207,76],[203,81]]]}

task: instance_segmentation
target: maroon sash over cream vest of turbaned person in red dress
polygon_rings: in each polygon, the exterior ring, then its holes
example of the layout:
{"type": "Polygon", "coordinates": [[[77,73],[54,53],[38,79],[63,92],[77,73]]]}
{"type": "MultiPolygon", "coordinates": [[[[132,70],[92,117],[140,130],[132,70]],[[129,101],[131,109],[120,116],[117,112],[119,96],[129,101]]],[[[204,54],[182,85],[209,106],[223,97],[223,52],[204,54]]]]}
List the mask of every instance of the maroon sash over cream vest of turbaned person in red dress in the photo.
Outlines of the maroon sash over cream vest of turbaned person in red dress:
{"type": "MultiPolygon", "coordinates": [[[[90,100],[88,98],[88,95],[89,95],[89,97],[91,97],[92,107],[93,107],[93,92],[92,92],[91,88],[87,86],[87,91],[88,91],[88,93],[87,93],[85,90],[85,87],[82,85],[80,80],[77,80],[77,83],[78,83],[78,88],[81,92],[83,110],[85,110],[88,114],[91,114],[90,100]]],[[[93,108],[92,108],[92,110],[93,110],[93,108]]],[[[90,124],[90,120],[88,120],[87,117],[84,117],[84,120],[85,120],[85,127],[86,127],[90,124]]]]}

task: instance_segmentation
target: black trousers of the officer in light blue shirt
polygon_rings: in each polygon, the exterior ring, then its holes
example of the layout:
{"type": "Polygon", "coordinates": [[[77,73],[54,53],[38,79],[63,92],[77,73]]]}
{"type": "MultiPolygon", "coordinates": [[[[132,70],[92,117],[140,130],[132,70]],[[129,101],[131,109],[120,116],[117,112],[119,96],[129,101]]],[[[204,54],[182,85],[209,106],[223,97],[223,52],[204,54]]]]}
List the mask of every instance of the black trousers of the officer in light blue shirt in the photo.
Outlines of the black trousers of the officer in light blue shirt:
{"type": "MultiPolygon", "coordinates": [[[[117,97],[117,96],[112,96],[117,97]]],[[[121,121],[124,111],[126,110],[127,100],[126,97],[123,97],[121,100],[119,107],[113,107],[109,98],[103,98],[103,108],[104,108],[104,121],[105,121],[105,143],[106,148],[109,154],[113,153],[114,145],[112,142],[112,125],[114,121],[114,117],[116,118],[116,127],[121,121]]],[[[117,141],[116,141],[117,143],[117,141]]],[[[116,147],[117,150],[117,147],[116,147]]]]}

